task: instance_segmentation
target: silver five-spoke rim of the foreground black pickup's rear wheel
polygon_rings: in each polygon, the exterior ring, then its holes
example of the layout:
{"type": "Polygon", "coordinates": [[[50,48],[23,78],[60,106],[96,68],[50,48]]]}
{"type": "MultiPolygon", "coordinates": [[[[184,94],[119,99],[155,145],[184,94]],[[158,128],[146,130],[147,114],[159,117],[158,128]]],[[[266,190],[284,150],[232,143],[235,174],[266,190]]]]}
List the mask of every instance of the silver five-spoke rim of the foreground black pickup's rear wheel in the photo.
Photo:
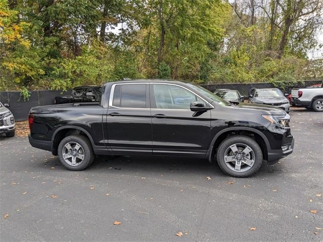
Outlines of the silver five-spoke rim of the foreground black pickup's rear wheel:
{"type": "Polygon", "coordinates": [[[84,160],[84,150],[77,142],[71,141],[64,145],[62,154],[64,161],[72,166],[77,166],[84,160]]]}

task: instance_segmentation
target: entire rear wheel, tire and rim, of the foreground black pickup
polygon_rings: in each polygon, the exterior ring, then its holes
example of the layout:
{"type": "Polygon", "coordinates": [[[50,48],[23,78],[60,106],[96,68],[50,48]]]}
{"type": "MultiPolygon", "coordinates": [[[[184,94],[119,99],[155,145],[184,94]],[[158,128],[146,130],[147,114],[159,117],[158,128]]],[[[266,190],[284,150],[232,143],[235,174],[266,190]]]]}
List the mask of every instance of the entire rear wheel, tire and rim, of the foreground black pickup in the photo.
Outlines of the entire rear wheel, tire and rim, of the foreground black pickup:
{"type": "Polygon", "coordinates": [[[62,164],[69,170],[83,170],[94,160],[90,141],[83,135],[70,135],[59,144],[58,153],[62,164]]]}

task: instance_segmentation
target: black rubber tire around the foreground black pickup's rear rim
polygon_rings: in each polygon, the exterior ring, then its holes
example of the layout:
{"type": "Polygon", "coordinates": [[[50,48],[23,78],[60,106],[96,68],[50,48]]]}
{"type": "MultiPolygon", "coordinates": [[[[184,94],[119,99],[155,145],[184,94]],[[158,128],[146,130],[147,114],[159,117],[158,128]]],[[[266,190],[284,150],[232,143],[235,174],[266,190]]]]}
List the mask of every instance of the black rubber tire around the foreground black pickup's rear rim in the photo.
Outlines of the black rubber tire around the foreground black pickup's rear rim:
{"type": "Polygon", "coordinates": [[[90,141],[83,135],[70,135],[65,137],[59,144],[58,154],[61,163],[69,170],[84,170],[92,164],[95,157],[90,141]],[[63,148],[69,142],[77,142],[84,150],[84,159],[78,165],[70,165],[63,158],[63,148]]]}

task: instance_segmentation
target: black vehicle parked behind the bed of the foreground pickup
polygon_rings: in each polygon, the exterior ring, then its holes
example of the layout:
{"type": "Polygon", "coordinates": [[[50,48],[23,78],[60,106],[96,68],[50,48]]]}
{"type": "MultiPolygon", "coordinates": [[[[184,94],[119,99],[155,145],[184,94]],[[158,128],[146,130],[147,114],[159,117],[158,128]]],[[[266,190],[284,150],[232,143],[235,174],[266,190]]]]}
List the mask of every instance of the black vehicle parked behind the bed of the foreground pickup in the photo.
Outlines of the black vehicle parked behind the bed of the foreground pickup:
{"type": "Polygon", "coordinates": [[[54,104],[99,102],[102,94],[101,89],[101,86],[75,87],[72,90],[72,95],[55,97],[54,104]]]}

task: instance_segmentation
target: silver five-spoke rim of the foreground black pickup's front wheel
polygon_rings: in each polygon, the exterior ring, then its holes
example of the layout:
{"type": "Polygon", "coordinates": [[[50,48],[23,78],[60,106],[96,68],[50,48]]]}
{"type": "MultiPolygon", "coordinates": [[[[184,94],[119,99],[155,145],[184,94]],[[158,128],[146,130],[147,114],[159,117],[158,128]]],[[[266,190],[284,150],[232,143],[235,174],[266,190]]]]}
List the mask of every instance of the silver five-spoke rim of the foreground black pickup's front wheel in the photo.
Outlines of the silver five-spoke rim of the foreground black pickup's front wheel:
{"type": "Polygon", "coordinates": [[[233,144],[226,149],[224,161],[229,169],[236,172],[245,172],[253,166],[255,154],[245,144],[233,144]]]}

